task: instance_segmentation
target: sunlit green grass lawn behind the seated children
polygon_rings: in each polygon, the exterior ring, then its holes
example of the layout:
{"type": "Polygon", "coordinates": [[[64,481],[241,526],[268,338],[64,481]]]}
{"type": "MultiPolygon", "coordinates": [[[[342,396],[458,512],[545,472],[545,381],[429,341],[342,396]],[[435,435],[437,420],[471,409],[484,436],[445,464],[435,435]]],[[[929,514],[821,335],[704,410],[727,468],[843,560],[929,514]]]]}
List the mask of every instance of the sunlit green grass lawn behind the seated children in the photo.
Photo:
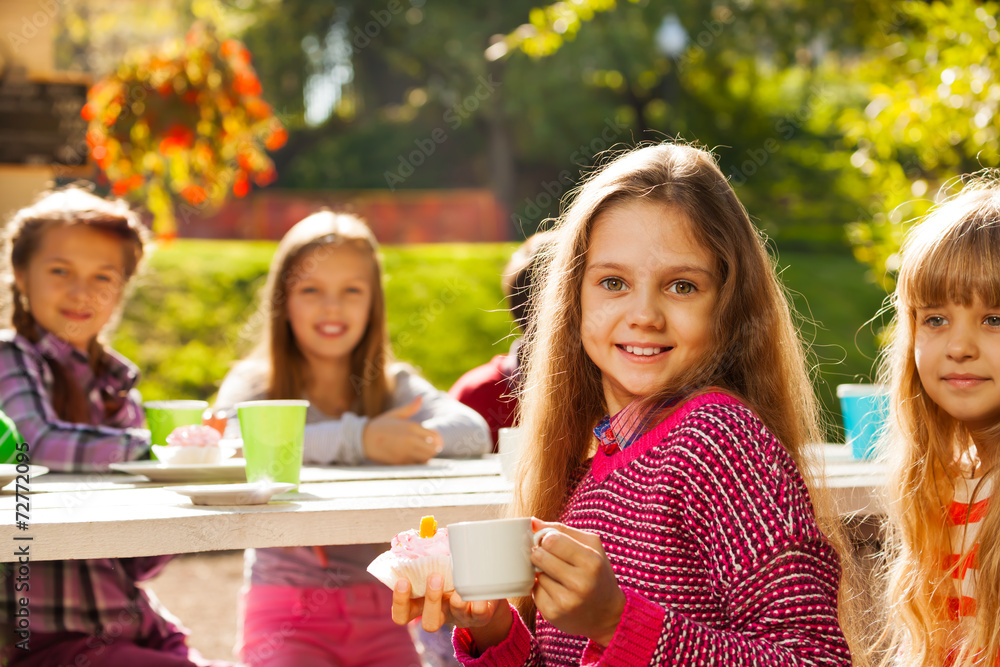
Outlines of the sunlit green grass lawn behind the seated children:
{"type": "MultiPolygon", "coordinates": [[[[113,345],[143,371],[147,400],[211,399],[249,349],[274,243],[179,240],[157,248],[113,345]]],[[[506,352],[512,324],[500,271],[515,244],[384,247],[389,330],[396,356],[447,389],[463,372],[506,352]]],[[[876,347],[867,322],[884,293],[841,254],[781,253],[783,279],[817,361],[817,390],[839,424],[836,385],[867,381],[876,347]]],[[[838,437],[831,434],[830,437],[838,437]]]]}

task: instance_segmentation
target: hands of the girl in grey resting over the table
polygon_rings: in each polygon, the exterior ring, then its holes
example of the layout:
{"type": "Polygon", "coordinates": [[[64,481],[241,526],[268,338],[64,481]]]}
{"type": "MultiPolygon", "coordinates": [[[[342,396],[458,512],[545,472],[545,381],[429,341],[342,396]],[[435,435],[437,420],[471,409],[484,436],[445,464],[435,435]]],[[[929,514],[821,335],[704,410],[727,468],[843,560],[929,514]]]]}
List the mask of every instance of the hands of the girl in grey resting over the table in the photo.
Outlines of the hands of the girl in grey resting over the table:
{"type": "Polygon", "coordinates": [[[407,405],[372,418],[362,435],[365,458],[389,465],[426,463],[434,458],[444,447],[441,434],[410,421],[420,404],[418,396],[407,405]]]}

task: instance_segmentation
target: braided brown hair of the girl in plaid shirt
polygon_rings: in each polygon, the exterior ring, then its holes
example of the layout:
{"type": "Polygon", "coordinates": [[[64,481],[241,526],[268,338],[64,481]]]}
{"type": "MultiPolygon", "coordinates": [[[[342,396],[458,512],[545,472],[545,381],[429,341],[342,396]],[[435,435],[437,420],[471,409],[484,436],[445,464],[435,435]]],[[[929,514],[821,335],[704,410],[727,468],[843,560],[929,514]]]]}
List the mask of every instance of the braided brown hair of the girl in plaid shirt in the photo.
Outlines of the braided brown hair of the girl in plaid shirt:
{"type": "MultiPolygon", "coordinates": [[[[5,308],[9,308],[7,312],[14,330],[33,343],[38,342],[38,326],[30,309],[24,307],[25,295],[14,281],[14,272],[28,270],[28,265],[47,233],[74,225],[86,225],[121,241],[123,278],[126,283],[138,271],[145,253],[148,232],[128,204],[121,200],[103,199],[81,187],[70,186],[45,192],[34,204],[15,213],[4,236],[4,256],[10,262],[6,276],[10,282],[10,303],[5,304],[5,308]]],[[[124,291],[122,294],[124,295],[124,291]]],[[[122,301],[124,302],[124,298],[122,301]]],[[[114,328],[120,314],[119,308],[102,336],[114,328]]],[[[102,336],[95,338],[90,346],[90,363],[95,372],[100,372],[104,363],[102,336]]],[[[66,421],[89,423],[90,410],[83,388],[77,385],[59,362],[54,359],[46,361],[52,370],[52,406],[56,414],[66,421]]]]}

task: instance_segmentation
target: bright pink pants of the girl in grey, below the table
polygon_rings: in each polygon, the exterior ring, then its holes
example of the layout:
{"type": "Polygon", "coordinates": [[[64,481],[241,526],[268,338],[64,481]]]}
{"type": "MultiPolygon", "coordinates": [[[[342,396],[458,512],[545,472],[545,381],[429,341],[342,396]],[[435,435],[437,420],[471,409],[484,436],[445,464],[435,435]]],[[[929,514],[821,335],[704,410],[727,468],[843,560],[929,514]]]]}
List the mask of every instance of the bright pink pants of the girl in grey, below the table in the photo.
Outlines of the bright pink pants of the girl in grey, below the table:
{"type": "Polygon", "coordinates": [[[236,650],[250,667],[420,667],[391,609],[392,591],[382,584],[251,586],[236,650]]]}

